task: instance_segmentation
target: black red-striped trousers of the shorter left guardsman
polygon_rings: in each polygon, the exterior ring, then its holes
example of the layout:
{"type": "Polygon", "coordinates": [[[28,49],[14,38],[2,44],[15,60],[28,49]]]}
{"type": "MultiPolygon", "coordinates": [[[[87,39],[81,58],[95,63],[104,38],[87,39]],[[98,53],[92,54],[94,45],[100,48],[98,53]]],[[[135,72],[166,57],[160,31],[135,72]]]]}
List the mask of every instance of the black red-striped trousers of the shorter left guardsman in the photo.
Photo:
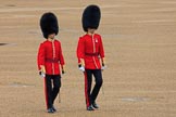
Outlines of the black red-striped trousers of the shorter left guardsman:
{"type": "Polygon", "coordinates": [[[53,106],[54,100],[60,92],[61,75],[46,75],[45,78],[45,92],[47,108],[53,106]]]}

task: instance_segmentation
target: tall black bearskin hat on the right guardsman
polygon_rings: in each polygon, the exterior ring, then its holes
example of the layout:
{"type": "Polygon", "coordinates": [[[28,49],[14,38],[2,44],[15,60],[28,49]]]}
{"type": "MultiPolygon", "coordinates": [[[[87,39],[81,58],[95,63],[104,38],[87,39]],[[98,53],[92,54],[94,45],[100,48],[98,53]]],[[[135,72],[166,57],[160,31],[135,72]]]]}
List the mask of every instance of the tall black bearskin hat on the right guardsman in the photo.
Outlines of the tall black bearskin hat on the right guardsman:
{"type": "Polygon", "coordinates": [[[88,5],[81,17],[81,24],[85,31],[88,30],[88,28],[95,28],[98,29],[99,23],[101,18],[101,11],[98,5],[88,5]]]}

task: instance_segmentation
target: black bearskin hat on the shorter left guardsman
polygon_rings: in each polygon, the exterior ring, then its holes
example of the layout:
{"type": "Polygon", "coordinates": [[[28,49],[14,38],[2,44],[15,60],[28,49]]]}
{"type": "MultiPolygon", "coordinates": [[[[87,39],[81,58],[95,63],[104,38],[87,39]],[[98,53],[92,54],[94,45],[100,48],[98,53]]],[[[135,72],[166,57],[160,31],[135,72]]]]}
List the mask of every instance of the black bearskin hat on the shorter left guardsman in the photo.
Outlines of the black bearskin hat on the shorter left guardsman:
{"type": "Polygon", "coordinates": [[[58,35],[59,23],[56,16],[51,12],[45,13],[40,18],[40,28],[46,39],[50,34],[58,35]]]}

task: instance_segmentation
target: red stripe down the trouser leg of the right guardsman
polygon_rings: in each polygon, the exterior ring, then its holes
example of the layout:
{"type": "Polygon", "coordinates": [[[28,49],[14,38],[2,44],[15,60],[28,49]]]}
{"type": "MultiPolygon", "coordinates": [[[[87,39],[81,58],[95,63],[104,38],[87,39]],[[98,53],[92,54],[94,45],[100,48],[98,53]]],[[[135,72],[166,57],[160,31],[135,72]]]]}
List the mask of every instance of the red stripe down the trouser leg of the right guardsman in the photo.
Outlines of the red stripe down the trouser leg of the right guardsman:
{"type": "Polygon", "coordinates": [[[86,98],[86,105],[87,107],[90,105],[90,102],[89,102],[89,96],[88,96],[88,79],[87,79],[87,74],[86,72],[84,73],[85,75],[85,98],[86,98]]]}

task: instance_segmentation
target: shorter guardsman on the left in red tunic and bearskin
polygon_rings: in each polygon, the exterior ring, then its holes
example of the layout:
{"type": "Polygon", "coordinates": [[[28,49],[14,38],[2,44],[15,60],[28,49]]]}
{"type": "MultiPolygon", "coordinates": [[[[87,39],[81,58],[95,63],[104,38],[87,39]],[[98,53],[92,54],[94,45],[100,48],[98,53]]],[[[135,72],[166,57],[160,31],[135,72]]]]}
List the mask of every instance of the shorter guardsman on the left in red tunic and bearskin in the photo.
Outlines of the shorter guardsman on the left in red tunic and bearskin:
{"type": "Polygon", "coordinates": [[[38,50],[38,69],[45,77],[46,104],[48,113],[54,113],[54,100],[61,88],[61,70],[64,74],[64,57],[61,42],[54,37],[59,32],[58,18],[53,13],[45,13],[40,18],[40,27],[46,40],[38,50]],[[61,69],[61,70],[60,70],[61,69]]]}

